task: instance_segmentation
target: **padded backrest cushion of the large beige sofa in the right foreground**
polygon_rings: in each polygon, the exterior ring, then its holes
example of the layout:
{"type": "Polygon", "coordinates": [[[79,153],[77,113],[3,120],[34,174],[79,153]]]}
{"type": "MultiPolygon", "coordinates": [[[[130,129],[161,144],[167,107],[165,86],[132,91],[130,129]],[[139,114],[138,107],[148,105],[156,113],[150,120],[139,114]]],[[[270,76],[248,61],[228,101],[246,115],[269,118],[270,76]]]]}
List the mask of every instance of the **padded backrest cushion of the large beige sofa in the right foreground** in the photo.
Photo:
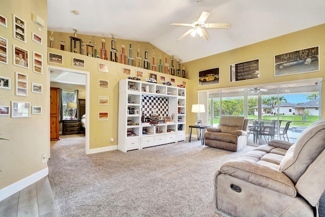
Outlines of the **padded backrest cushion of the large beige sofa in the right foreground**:
{"type": "Polygon", "coordinates": [[[325,149],[325,120],[317,120],[304,130],[282,159],[279,170],[296,184],[308,166],[325,149]]]}

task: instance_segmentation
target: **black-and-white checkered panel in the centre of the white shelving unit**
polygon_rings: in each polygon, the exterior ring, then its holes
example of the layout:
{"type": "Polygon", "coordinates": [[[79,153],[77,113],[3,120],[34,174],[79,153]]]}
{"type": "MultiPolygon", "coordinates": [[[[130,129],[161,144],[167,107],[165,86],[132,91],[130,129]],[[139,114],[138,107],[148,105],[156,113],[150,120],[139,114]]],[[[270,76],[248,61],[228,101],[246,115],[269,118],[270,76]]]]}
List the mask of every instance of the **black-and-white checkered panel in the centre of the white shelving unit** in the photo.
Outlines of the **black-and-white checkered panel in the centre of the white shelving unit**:
{"type": "Polygon", "coordinates": [[[153,110],[156,110],[158,116],[168,116],[168,98],[142,96],[142,112],[145,117],[152,115],[153,110]]]}

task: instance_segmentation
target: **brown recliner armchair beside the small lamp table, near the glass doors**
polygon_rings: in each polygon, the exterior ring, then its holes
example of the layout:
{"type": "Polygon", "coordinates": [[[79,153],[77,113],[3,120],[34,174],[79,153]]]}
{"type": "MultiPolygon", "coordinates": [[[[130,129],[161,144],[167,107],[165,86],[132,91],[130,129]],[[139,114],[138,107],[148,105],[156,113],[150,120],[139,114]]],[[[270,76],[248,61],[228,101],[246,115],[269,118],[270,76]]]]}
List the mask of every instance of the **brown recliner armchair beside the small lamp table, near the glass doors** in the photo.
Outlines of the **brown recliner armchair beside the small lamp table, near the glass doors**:
{"type": "Polygon", "coordinates": [[[247,144],[248,119],[242,116],[221,116],[218,128],[207,128],[205,145],[238,151],[247,144]]]}

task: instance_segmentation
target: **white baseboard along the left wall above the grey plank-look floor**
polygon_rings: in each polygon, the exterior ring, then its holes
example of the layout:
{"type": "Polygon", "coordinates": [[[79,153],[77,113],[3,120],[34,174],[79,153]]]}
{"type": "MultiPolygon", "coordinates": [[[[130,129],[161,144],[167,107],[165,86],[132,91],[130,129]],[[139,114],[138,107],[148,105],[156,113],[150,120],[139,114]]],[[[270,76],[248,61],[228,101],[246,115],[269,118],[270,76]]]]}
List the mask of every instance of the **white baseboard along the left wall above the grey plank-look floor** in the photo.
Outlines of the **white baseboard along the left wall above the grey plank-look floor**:
{"type": "Polygon", "coordinates": [[[32,183],[37,182],[38,180],[44,178],[49,174],[49,168],[46,167],[45,169],[38,171],[30,176],[27,176],[26,178],[23,178],[3,189],[0,189],[0,201],[3,199],[6,199],[7,197],[23,190],[27,186],[29,186],[32,183]]]}

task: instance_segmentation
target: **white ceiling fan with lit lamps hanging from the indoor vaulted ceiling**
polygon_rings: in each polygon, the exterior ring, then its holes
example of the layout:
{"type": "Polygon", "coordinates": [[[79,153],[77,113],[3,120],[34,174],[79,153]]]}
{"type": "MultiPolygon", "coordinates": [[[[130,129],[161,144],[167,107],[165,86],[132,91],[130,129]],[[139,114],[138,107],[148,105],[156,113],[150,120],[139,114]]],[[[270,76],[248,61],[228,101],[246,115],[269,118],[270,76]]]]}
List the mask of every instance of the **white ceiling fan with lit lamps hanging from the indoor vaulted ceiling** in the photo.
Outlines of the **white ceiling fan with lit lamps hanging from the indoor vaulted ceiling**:
{"type": "Polygon", "coordinates": [[[196,36],[198,34],[200,37],[202,37],[204,40],[208,41],[210,40],[210,37],[204,27],[206,28],[230,28],[230,23],[205,23],[205,21],[208,19],[210,16],[210,12],[208,11],[203,11],[201,16],[199,17],[199,2],[200,0],[196,0],[198,3],[198,20],[192,22],[191,24],[189,23],[171,23],[171,25],[179,25],[179,26],[191,26],[192,29],[189,29],[186,33],[181,35],[177,41],[182,40],[184,37],[187,35],[191,34],[191,36],[196,36]]]}

